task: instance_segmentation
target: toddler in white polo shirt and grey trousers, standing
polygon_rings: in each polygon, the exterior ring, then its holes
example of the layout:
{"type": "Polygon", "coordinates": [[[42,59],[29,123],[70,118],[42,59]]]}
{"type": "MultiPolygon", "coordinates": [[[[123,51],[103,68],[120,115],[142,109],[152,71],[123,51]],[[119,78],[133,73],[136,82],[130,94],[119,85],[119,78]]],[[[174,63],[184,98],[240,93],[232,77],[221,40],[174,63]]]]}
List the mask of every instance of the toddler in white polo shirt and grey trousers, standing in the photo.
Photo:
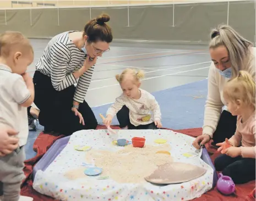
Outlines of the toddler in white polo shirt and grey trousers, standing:
{"type": "Polygon", "coordinates": [[[0,126],[19,132],[19,147],[0,157],[2,201],[32,200],[20,196],[20,185],[24,179],[24,145],[29,134],[27,107],[34,101],[34,84],[25,71],[33,60],[33,49],[22,34],[5,32],[0,35],[0,126]]]}

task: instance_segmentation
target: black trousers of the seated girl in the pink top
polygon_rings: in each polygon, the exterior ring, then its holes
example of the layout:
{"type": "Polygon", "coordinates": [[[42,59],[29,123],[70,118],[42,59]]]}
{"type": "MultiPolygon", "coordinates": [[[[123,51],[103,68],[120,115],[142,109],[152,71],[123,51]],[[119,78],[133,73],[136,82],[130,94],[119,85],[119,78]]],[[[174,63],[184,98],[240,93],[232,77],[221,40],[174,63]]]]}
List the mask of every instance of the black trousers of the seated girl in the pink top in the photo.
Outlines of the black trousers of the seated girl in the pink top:
{"type": "Polygon", "coordinates": [[[255,180],[255,159],[253,158],[232,158],[221,154],[215,159],[214,165],[217,171],[230,176],[234,183],[247,183],[255,180]]]}

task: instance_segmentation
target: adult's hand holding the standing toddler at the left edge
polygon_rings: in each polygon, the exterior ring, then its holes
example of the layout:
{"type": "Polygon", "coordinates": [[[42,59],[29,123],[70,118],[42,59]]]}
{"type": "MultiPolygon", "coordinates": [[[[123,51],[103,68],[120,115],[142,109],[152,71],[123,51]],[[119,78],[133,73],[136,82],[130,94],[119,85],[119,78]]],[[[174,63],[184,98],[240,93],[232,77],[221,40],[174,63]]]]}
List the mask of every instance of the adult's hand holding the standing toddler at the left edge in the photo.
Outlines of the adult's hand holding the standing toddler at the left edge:
{"type": "Polygon", "coordinates": [[[19,139],[14,137],[18,132],[14,129],[0,126],[0,157],[12,153],[18,148],[19,139]]]}

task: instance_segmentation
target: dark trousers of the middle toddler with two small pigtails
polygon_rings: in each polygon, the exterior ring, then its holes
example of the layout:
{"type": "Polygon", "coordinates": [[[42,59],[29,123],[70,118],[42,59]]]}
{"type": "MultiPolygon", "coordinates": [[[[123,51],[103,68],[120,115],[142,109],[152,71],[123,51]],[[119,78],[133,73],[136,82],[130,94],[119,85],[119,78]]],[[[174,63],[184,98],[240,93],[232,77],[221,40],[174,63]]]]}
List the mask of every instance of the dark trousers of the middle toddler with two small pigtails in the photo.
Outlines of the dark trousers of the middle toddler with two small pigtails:
{"type": "Polygon", "coordinates": [[[128,127],[128,129],[157,129],[156,125],[154,122],[151,124],[146,124],[146,125],[139,125],[139,126],[134,126],[133,124],[130,123],[130,117],[129,117],[129,109],[124,105],[121,110],[118,111],[117,113],[117,120],[119,121],[119,125],[121,128],[123,127],[128,127]]]}

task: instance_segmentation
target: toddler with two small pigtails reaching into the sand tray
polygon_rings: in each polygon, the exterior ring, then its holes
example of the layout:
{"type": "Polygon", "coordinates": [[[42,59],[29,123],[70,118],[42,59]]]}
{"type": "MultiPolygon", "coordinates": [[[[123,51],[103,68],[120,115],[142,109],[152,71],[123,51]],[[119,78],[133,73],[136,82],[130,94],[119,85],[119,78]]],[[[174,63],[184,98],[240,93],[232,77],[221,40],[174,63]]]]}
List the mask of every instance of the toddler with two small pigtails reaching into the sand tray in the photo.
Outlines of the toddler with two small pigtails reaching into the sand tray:
{"type": "Polygon", "coordinates": [[[121,75],[116,75],[123,93],[107,110],[107,117],[104,120],[106,126],[110,126],[113,117],[117,114],[119,124],[127,126],[128,129],[162,127],[159,104],[152,94],[140,88],[140,78],[143,76],[143,71],[137,72],[134,69],[126,69],[121,75]],[[118,115],[119,110],[123,111],[118,115]]]}

